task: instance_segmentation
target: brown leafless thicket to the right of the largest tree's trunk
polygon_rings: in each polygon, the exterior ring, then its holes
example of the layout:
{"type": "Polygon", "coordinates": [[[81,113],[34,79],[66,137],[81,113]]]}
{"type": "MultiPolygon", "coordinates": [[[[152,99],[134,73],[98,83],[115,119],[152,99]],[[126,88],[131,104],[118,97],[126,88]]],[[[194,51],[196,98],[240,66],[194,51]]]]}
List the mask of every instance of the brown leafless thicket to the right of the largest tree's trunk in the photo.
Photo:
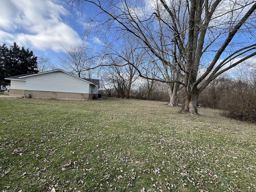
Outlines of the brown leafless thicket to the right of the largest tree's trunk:
{"type": "Polygon", "coordinates": [[[219,109],[226,117],[256,122],[256,68],[243,64],[214,79],[200,94],[201,106],[219,109]]]}

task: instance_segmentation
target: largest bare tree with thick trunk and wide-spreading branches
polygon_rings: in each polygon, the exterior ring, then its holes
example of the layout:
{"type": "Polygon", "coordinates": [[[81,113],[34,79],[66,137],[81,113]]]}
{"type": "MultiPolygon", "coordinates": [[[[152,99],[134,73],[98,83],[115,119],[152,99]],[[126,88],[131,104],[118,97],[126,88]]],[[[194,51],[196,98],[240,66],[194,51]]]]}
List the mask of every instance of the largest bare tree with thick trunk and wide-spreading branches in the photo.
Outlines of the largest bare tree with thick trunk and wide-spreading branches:
{"type": "Polygon", "coordinates": [[[165,63],[178,77],[170,82],[184,86],[184,112],[198,114],[200,92],[222,73],[256,56],[255,0],[68,2],[90,3],[101,10],[92,22],[102,38],[118,41],[130,33],[165,63]]]}

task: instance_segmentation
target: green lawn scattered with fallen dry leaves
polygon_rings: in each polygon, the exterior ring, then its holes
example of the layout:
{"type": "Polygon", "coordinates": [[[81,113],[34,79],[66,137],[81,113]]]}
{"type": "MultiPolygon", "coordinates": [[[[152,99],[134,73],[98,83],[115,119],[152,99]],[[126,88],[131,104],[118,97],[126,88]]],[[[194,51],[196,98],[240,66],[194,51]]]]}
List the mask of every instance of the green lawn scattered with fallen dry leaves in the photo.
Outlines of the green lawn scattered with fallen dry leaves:
{"type": "Polygon", "coordinates": [[[256,125],[218,110],[0,98],[0,191],[256,191],[256,125]]]}

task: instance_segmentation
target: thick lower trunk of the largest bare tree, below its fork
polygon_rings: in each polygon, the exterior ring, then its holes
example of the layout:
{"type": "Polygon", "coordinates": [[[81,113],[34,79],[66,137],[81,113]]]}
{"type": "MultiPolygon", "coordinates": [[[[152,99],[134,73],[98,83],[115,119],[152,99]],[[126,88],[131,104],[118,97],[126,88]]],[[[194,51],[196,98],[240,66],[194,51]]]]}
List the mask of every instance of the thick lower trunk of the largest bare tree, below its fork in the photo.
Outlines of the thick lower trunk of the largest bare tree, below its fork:
{"type": "Polygon", "coordinates": [[[198,96],[199,96],[198,90],[194,90],[194,92],[191,92],[190,90],[186,90],[185,106],[182,109],[182,112],[189,112],[190,114],[198,115],[198,112],[197,112],[198,96]]]}

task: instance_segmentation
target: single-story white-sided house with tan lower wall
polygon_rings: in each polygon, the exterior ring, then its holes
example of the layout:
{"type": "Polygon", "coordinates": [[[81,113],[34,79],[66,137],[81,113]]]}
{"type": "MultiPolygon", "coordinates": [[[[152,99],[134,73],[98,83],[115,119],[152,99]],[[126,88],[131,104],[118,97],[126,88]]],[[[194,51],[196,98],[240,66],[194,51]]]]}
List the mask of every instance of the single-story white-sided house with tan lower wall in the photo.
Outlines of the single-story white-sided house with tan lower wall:
{"type": "Polygon", "coordinates": [[[22,75],[18,79],[13,77],[6,79],[11,80],[10,96],[22,93],[21,90],[23,90],[22,96],[26,97],[29,94],[32,98],[90,99],[98,97],[98,85],[59,69],[22,75]]]}

